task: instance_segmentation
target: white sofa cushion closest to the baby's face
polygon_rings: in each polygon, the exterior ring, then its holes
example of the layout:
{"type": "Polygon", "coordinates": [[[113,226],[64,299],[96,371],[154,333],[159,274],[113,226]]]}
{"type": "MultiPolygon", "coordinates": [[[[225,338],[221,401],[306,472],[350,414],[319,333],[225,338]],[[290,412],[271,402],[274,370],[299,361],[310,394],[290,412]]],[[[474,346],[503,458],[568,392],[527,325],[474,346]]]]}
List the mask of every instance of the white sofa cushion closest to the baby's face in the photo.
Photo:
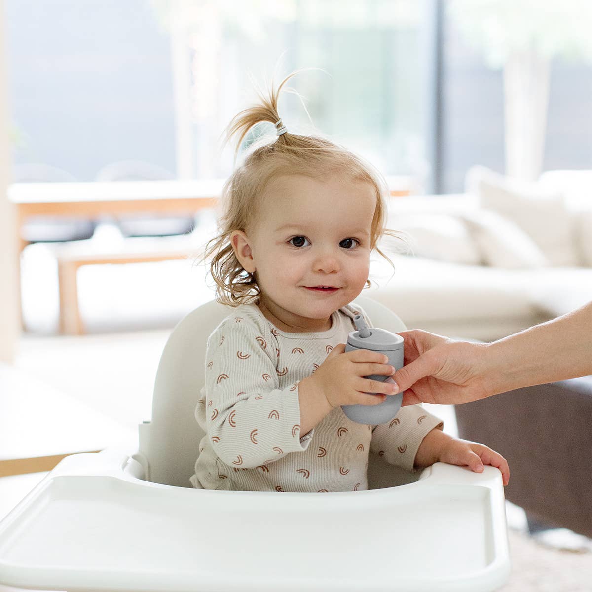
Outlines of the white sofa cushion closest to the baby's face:
{"type": "Polygon", "coordinates": [[[407,214],[397,217],[395,224],[414,255],[465,265],[481,263],[477,244],[455,215],[407,214]]]}

